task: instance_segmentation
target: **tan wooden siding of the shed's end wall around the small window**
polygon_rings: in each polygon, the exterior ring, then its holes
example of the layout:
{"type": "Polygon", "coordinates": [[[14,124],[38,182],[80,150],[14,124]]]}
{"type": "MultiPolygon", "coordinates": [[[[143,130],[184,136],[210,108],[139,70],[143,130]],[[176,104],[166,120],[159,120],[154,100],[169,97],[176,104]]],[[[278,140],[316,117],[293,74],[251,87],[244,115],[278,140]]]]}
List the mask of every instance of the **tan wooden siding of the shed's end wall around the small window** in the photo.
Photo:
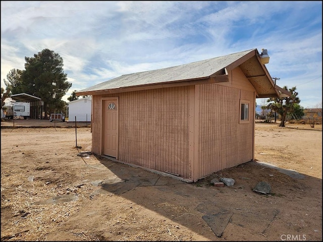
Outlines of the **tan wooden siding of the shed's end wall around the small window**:
{"type": "Polygon", "coordinates": [[[253,159],[254,105],[255,89],[239,68],[232,85],[200,85],[198,177],[253,159]],[[250,101],[248,124],[239,124],[240,99],[250,101]]]}

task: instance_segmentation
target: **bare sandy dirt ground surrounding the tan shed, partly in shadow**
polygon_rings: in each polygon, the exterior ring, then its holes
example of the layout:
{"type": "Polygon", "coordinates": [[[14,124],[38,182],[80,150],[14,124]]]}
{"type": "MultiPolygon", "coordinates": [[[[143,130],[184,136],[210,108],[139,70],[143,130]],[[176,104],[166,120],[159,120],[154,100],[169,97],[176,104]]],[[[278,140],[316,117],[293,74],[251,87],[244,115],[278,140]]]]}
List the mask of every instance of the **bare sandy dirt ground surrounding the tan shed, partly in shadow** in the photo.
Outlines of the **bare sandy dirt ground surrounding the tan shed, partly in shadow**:
{"type": "Polygon", "coordinates": [[[2,241],[322,239],[321,126],[256,124],[255,161],[188,184],[91,154],[88,124],[38,121],[1,124],[2,241]]]}

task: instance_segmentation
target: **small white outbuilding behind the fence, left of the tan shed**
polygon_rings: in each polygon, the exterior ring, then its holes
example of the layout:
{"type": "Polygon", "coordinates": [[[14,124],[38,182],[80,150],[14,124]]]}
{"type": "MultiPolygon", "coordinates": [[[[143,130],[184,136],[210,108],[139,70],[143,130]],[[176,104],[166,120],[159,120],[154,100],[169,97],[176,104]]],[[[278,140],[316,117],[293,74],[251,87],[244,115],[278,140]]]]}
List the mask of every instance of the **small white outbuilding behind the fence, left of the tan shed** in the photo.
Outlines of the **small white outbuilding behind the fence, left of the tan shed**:
{"type": "Polygon", "coordinates": [[[90,98],[80,98],[74,101],[70,101],[68,104],[69,121],[73,122],[90,122],[91,121],[91,104],[90,98]]]}

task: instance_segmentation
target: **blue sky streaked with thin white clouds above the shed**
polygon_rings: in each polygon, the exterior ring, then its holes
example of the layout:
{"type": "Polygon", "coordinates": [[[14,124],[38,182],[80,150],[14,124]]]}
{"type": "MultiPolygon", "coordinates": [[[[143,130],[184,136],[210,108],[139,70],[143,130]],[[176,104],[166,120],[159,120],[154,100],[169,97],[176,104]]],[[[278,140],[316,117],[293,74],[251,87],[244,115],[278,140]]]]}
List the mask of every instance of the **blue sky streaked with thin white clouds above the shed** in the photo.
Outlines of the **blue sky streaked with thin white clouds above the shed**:
{"type": "Polygon", "coordinates": [[[265,48],[277,84],[322,107],[322,1],[1,1],[1,86],[45,48],[63,58],[65,101],[124,74],[265,48]]]}

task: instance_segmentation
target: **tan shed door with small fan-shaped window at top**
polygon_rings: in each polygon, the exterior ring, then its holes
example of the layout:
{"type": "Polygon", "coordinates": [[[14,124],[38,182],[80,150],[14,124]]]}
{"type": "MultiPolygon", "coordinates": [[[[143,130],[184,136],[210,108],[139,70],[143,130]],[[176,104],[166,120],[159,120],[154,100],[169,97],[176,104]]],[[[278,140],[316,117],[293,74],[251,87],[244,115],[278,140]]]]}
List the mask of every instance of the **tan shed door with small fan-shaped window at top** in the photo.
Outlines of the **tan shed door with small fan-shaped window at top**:
{"type": "Polygon", "coordinates": [[[103,101],[103,154],[118,158],[118,98],[103,101]]]}

